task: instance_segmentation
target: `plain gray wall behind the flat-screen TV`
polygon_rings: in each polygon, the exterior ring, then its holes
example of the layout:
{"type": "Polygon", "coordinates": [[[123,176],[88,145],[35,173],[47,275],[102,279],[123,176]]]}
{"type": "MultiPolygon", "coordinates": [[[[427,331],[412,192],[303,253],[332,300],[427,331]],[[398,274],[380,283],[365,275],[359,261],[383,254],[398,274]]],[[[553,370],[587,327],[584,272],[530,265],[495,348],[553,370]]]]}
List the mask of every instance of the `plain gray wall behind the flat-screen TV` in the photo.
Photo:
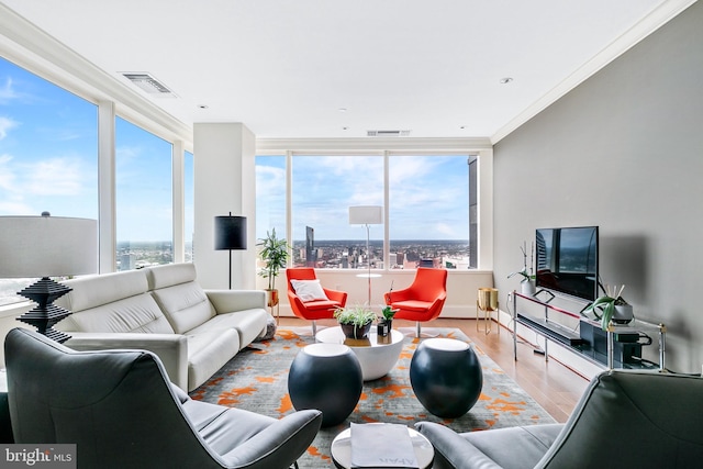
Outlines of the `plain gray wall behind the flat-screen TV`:
{"type": "Polygon", "coordinates": [[[700,373],[703,2],[495,144],[501,295],[520,288],[506,277],[535,228],[583,225],[600,226],[603,282],[625,283],[636,316],[667,325],[668,368],[700,373]]]}

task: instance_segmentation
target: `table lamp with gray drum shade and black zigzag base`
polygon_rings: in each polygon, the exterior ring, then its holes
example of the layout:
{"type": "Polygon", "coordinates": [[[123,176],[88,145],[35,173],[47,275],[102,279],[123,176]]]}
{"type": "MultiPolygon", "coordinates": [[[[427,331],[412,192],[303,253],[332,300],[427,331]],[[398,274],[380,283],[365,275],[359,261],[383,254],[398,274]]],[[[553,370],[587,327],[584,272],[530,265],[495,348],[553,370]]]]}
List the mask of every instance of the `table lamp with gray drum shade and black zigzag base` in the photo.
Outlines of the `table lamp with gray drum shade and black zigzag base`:
{"type": "Polygon", "coordinates": [[[70,311],[53,304],[71,289],[49,277],[98,271],[98,222],[51,216],[0,216],[0,278],[37,278],[18,294],[36,303],[18,317],[58,343],[69,335],[54,325],[70,311]]]}

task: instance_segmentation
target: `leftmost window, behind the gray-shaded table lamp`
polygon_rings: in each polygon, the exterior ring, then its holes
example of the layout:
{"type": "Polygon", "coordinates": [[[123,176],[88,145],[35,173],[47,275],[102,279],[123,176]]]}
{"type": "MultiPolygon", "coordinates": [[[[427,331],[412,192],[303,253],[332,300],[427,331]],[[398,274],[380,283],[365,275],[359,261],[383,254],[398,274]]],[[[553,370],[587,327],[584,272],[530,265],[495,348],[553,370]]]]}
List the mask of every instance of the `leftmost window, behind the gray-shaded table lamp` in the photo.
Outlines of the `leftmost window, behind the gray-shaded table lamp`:
{"type": "MultiPolygon", "coordinates": [[[[0,58],[0,215],[98,219],[98,110],[0,58]]],[[[0,305],[34,279],[0,279],[0,305]]]]}

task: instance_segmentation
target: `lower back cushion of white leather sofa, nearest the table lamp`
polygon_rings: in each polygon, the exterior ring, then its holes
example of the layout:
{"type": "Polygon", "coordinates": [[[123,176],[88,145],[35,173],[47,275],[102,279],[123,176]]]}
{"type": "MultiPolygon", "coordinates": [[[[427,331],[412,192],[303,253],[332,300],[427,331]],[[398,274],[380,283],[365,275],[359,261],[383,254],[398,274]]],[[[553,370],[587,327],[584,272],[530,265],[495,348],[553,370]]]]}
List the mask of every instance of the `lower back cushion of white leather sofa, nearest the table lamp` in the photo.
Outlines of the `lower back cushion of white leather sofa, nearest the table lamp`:
{"type": "MultiPolygon", "coordinates": [[[[72,294],[72,292],[68,294],[72,294]]],[[[74,314],[56,324],[56,328],[65,332],[174,334],[174,328],[149,293],[75,311],[74,314]]]]}

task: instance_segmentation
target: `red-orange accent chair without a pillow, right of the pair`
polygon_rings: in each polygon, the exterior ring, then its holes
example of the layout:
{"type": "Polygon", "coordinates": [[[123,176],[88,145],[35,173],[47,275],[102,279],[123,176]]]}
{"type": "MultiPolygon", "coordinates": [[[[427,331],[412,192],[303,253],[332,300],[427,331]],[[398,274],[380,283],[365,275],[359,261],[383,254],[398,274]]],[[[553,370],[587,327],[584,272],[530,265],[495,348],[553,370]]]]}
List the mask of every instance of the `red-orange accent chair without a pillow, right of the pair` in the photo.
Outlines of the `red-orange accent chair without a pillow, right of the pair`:
{"type": "Polygon", "coordinates": [[[432,321],[442,313],[447,299],[447,269],[419,267],[413,283],[403,290],[389,291],[383,295],[386,304],[398,310],[393,319],[417,322],[432,321]]]}

